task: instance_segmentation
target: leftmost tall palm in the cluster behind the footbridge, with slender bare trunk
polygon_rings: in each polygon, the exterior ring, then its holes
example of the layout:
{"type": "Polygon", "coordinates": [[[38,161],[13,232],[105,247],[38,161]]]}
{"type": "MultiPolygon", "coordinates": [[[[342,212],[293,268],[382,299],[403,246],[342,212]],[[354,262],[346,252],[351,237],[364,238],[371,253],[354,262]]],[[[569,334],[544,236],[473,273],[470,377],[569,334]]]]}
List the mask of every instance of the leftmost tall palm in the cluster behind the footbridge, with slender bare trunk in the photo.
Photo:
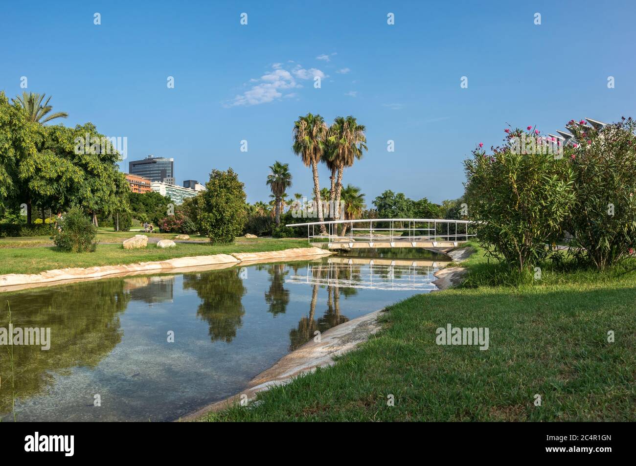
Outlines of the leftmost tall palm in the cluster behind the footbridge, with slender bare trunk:
{"type": "MultiPolygon", "coordinates": [[[[326,139],[328,134],[327,125],[324,118],[320,115],[312,115],[308,113],[305,116],[299,116],[294,121],[292,150],[294,154],[299,155],[305,167],[312,167],[314,175],[314,197],[318,205],[321,205],[320,181],[318,179],[318,164],[324,153],[326,139]]],[[[318,220],[324,221],[322,209],[318,210],[318,220]]],[[[324,224],[321,224],[321,233],[327,233],[324,224]]]]}

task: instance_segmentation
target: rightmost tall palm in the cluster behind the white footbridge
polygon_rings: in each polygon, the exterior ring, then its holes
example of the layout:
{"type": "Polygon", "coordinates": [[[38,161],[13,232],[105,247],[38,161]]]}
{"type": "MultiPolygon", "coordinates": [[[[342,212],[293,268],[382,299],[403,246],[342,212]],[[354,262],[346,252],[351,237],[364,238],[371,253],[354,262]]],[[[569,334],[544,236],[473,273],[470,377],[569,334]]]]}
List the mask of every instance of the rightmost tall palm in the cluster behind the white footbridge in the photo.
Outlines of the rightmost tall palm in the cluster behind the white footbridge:
{"type": "Polygon", "coordinates": [[[329,128],[329,142],[336,144],[334,163],[338,167],[336,179],[336,195],[333,200],[336,217],[340,218],[340,196],[342,194],[342,174],[345,167],[351,167],[354,161],[362,158],[366,151],[366,127],[359,125],[353,116],[336,117],[329,128]]]}

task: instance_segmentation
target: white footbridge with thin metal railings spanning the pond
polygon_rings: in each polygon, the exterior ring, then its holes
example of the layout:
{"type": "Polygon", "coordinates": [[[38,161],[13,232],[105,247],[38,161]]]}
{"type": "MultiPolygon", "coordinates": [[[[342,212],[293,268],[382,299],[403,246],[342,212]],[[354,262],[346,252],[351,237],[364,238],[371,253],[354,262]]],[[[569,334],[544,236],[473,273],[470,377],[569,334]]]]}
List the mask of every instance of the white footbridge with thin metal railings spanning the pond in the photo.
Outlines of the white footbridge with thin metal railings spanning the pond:
{"type": "Polygon", "coordinates": [[[333,220],[310,223],[292,223],[286,226],[307,226],[309,243],[352,242],[460,242],[475,236],[471,221],[446,219],[358,219],[333,220]],[[324,225],[327,234],[321,234],[324,225]],[[343,227],[347,230],[343,232],[343,227]]]}

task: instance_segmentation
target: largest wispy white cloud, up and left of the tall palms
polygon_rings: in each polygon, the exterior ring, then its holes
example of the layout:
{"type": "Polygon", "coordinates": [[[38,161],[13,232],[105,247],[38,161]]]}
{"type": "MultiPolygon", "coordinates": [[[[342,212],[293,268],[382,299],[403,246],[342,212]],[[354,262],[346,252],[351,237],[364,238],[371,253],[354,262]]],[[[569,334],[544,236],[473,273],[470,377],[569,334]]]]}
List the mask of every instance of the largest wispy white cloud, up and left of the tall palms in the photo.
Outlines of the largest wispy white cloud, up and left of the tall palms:
{"type": "Polygon", "coordinates": [[[225,107],[235,106],[251,106],[258,104],[266,104],[281,97],[296,97],[296,92],[287,92],[286,90],[303,87],[299,80],[314,79],[314,76],[326,78],[326,74],[316,68],[305,69],[301,65],[295,65],[291,70],[283,69],[282,64],[275,63],[272,70],[265,72],[260,78],[252,78],[249,80],[253,83],[251,88],[224,104],[225,107]]]}

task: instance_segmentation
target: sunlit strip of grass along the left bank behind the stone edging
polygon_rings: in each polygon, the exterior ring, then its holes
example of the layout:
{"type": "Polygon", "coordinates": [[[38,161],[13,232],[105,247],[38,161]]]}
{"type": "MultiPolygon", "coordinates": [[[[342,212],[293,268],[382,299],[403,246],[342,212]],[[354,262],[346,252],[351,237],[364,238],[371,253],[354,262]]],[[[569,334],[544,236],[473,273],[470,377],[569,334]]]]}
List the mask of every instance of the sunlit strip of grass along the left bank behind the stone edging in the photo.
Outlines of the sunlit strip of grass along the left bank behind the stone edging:
{"type": "MultiPolygon", "coordinates": [[[[129,238],[128,233],[127,238],[129,238]]],[[[174,238],[174,235],[170,235],[174,238]]],[[[162,249],[149,243],[146,249],[123,249],[120,243],[100,244],[96,252],[79,254],[60,252],[57,247],[38,246],[0,249],[0,275],[5,273],[38,273],[67,267],[93,267],[100,265],[132,264],[135,262],[165,261],[175,257],[230,254],[232,252],[263,252],[307,247],[307,240],[237,238],[231,245],[214,246],[209,242],[200,244],[177,243],[176,247],[162,249]]]]}

